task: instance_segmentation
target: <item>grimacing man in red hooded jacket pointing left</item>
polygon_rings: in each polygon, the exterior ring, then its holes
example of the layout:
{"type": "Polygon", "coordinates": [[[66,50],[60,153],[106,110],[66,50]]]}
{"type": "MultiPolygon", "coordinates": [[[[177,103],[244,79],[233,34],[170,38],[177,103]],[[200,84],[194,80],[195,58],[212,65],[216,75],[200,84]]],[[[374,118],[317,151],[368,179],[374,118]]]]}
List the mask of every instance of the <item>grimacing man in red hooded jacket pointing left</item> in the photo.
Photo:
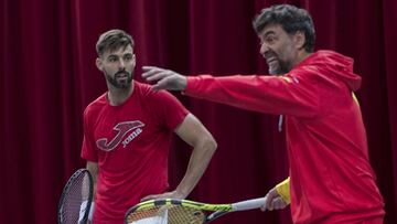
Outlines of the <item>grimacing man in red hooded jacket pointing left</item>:
{"type": "Polygon", "coordinates": [[[283,115],[294,223],[383,223],[384,202],[353,95],[361,86],[353,60],[333,51],[313,51],[313,22],[303,9],[266,8],[254,28],[273,76],[186,77],[149,66],[142,76],[155,82],[154,89],[184,90],[193,97],[283,115]]]}

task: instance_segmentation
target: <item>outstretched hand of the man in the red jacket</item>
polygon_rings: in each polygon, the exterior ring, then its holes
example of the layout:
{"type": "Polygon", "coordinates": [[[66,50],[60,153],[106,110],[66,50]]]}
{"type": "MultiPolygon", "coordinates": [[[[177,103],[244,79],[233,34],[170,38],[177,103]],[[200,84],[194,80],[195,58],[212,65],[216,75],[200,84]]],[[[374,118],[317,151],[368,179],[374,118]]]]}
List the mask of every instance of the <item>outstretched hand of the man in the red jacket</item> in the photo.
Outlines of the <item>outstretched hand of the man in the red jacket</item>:
{"type": "Polygon", "coordinates": [[[187,86],[187,78],[171,70],[154,66],[142,66],[142,77],[147,82],[153,83],[154,90],[184,90],[187,86]]]}

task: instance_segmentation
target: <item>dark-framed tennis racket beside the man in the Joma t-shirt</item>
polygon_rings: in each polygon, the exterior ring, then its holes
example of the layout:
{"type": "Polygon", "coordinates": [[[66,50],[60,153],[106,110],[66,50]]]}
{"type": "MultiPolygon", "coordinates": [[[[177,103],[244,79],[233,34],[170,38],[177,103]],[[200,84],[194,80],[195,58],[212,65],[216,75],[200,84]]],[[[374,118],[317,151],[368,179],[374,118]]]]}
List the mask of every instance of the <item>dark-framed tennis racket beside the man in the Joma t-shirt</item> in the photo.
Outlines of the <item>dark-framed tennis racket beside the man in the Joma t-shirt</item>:
{"type": "Polygon", "coordinates": [[[93,202],[93,177],[79,169],[67,181],[58,203],[58,224],[85,224],[93,202]]]}

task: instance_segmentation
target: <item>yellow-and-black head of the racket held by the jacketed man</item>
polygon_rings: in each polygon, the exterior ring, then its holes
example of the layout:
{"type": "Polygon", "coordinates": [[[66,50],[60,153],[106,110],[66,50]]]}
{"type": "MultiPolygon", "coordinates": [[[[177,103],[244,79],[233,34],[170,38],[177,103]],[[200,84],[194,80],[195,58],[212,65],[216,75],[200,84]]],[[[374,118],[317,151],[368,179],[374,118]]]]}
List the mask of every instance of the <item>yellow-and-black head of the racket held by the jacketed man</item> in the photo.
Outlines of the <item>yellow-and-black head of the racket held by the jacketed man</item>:
{"type": "Polygon", "coordinates": [[[168,224],[203,224],[208,222],[207,215],[210,211],[218,210],[225,212],[226,210],[230,210],[230,205],[211,205],[175,199],[150,200],[129,209],[125,216],[125,224],[140,223],[142,220],[161,216],[164,217],[164,211],[168,213],[165,217],[168,224]]]}

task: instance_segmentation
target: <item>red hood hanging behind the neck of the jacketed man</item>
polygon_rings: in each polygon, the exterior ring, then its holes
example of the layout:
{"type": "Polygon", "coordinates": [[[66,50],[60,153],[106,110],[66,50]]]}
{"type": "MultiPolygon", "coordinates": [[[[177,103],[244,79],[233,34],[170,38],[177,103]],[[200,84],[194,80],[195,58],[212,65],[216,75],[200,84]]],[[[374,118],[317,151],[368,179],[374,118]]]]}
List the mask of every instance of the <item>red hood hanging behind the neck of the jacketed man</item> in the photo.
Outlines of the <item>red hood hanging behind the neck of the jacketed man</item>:
{"type": "Polygon", "coordinates": [[[318,51],[305,58],[303,65],[320,65],[343,81],[351,90],[357,90],[362,78],[353,73],[353,58],[333,51],[318,51]]]}

